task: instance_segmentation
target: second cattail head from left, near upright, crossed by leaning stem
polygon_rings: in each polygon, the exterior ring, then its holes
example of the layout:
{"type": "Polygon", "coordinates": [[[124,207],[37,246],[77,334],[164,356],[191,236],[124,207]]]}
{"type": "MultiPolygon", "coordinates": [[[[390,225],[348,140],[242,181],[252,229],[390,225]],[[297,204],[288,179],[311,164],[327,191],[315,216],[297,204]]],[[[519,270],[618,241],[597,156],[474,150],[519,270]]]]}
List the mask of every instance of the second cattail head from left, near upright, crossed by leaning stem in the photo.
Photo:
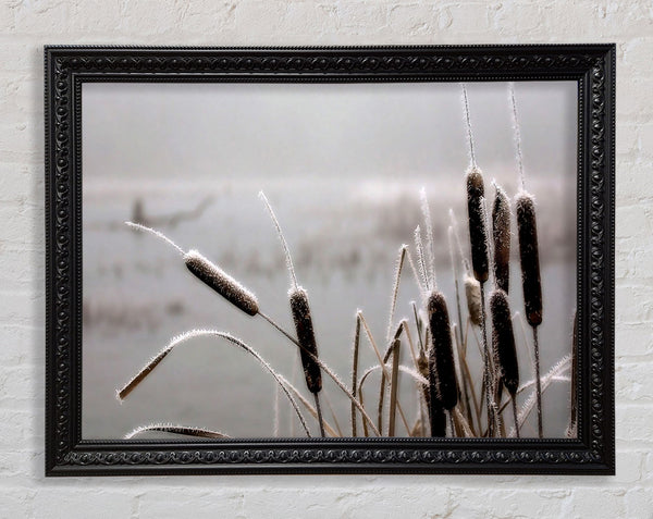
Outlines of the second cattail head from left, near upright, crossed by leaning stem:
{"type": "Polygon", "coordinates": [[[301,346],[301,366],[304,367],[304,376],[306,385],[311,393],[319,393],[322,390],[322,373],[318,363],[308,355],[318,356],[318,345],[312,328],[310,307],[308,306],[308,294],[304,288],[297,286],[288,292],[291,298],[291,312],[295,321],[295,331],[297,339],[301,346]]]}

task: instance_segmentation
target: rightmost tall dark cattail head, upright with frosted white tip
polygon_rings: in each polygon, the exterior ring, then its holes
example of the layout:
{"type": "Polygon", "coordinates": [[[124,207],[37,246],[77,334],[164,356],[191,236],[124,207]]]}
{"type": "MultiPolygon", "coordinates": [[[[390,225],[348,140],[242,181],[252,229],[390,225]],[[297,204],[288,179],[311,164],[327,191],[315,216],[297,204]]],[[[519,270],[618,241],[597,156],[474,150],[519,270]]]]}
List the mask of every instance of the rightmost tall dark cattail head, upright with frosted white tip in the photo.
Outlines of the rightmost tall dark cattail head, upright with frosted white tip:
{"type": "Polygon", "coordinates": [[[540,283],[535,202],[531,195],[521,191],[515,199],[515,207],[526,320],[531,326],[538,326],[542,322],[542,286],[540,283]]]}

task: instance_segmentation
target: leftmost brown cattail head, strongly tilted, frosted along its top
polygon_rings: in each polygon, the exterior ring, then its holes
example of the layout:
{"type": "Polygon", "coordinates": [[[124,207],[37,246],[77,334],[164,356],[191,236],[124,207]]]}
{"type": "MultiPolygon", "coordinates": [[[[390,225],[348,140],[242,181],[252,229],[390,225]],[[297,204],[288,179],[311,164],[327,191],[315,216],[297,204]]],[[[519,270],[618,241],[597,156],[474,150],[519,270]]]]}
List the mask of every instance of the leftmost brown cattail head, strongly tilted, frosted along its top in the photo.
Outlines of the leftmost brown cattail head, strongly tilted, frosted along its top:
{"type": "Polygon", "coordinates": [[[259,308],[256,296],[197,250],[186,252],[184,262],[196,277],[213,288],[232,305],[249,316],[258,313],[259,308]]]}

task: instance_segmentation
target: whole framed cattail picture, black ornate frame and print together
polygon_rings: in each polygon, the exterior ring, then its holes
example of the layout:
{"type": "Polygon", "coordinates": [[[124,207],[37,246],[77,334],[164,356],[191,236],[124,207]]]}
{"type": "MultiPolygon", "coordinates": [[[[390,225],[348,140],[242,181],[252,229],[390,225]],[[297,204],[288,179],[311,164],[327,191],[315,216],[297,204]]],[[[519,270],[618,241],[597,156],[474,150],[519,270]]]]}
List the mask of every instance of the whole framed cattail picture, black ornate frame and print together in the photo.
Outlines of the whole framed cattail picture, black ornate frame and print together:
{"type": "Polygon", "coordinates": [[[48,475],[614,473],[613,45],[45,58],[48,475]]]}

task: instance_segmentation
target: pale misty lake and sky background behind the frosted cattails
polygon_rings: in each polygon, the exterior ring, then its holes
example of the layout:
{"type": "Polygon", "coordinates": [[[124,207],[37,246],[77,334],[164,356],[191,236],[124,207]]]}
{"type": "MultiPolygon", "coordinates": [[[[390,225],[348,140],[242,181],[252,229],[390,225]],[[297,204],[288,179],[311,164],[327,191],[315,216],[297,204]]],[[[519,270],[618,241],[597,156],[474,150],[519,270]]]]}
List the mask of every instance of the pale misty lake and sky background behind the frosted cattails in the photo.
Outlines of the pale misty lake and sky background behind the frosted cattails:
{"type": "MultiPolygon", "coordinates": [[[[543,373],[571,349],[576,88],[574,82],[515,85],[526,186],[538,200],[543,373]]],[[[486,193],[493,196],[494,178],[513,197],[518,168],[507,84],[468,84],[468,95],[486,193]]],[[[177,347],[124,403],[115,399],[115,391],[171,337],[190,329],[241,337],[310,396],[295,346],[211,292],[172,247],[130,230],[125,220],[160,230],[185,250],[198,249],[255,292],[263,312],[293,330],[282,248],[257,197],[264,190],[308,291],[320,357],[348,381],[357,309],[384,343],[397,250],[404,243],[412,248],[415,226],[424,227],[422,187],[438,283],[454,313],[446,230],[451,208],[467,254],[468,164],[457,84],[84,84],[83,436],[118,438],[150,422],[271,436],[273,379],[219,339],[177,347]]],[[[522,311],[513,238],[510,302],[513,311],[522,311]]],[[[420,296],[406,270],[395,322],[411,317],[411,300],[420,296]]],[[[528,342],[519,326],[515,331],[527,381],[530,330],[528,342]]],[[[469,361],[480,380],[475,347],[469,361]]],[[[364,341],[359,371],[374,362],[364,341]]],[[[415,416],[415,385],[404,379],[399,397],[415,416]]],[[[325,417],[334,422],[332,407],[348,431],[348,401],[326,379],[323,393],[330,400],[325,417]]],[[[372,375],[370,409],[377,393],[372,375]]],[[[556,382],[544,395],[546,436],[564,435],[568,408],[569,383],[556,382]]],[[[283,397],[279,409],[280,434],[303,435],[283,397]]],[[[532,425],[523,433],[533,435],[532,425]]],[[[405,434],[402,427],[398,434],[405,434]]]]}

